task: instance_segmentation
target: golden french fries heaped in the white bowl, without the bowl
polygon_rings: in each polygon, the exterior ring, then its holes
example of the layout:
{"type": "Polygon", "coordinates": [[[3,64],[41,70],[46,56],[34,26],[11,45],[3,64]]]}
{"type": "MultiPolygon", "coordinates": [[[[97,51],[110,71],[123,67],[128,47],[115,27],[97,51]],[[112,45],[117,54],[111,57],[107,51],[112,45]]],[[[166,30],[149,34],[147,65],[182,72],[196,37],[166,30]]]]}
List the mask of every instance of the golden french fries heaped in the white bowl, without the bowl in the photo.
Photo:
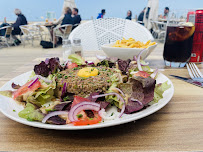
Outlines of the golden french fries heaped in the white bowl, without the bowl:
{"type": "Polygon", "coordinates": [[[155,45],[156,42],[147,41],[145,44],[140,41],[135,41],[133,38],[129,38],[126,40],[123,38],[122,40],[117,40],[113,47],[120,48],[148,48],[149,46],[155,45]]]}

